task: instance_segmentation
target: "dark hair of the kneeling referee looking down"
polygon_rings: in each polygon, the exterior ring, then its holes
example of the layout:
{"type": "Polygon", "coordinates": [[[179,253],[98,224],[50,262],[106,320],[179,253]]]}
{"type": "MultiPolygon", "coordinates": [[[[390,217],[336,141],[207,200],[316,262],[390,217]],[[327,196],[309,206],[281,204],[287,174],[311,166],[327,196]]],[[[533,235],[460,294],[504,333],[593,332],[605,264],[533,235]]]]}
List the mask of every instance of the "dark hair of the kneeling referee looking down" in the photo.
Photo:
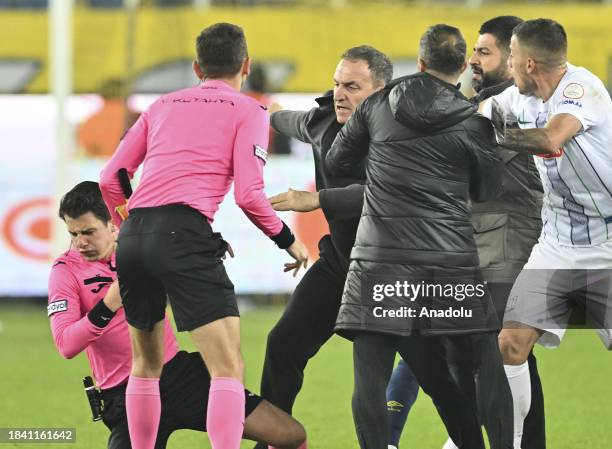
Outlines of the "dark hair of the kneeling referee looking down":
{"type": "Polygon", "coordinates": [[[59,217],[64,221],[66,216],[79,218],[87,212],[91,212],[104,223],[108,223],[111,219],[97,182],[83,181],[60,200],[59,217]]]}

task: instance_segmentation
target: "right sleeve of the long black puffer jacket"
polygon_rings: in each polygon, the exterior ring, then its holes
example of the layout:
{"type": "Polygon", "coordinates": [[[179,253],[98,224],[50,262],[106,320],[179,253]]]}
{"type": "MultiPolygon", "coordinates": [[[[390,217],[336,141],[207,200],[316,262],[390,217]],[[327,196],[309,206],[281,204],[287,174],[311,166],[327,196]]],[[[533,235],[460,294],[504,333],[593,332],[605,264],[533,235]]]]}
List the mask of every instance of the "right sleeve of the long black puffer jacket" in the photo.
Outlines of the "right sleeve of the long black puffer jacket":
{"type": "Polygon", "coordinates": [[[497,153],[497,140],[490,120],[476,115],[468,135],[472,152],[470,197],[480,203],[497,198],[503,190],[504,163],[497,153]]]}

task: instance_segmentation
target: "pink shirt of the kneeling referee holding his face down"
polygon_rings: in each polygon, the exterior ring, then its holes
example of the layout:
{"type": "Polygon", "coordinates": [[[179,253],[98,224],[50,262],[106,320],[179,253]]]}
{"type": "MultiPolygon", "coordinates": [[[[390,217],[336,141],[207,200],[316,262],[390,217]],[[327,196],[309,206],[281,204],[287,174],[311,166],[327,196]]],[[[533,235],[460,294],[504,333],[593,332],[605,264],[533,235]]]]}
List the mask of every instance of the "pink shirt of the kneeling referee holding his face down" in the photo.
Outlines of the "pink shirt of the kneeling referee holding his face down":
{"type": "MultiPolygon", "coordinates": [[[[132,348],[125,312],[119,309],[106,327],[97,327],[87,317],[117,279],[115,256],[88,262],[70,250],[53,263],[49,277],[51,332],[59,353],[70,359],[85,350],[100,388],[127,382],[132,367],[132,348]]],[[[168,318],[164,328],[164,363],[174,357],[178,344],[168,318]]]]}

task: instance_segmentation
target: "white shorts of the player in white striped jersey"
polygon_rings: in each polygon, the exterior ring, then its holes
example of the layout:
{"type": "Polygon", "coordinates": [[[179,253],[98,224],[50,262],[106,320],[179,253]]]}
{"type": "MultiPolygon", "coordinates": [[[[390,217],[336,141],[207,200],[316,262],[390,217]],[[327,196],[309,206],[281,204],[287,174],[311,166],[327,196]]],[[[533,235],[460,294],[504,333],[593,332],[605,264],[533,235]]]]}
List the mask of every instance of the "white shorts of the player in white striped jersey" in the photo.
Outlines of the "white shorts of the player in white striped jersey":
{"type": "Polygon", "coordinates": [[[612,350],[612,242],[569,247],[541,237],[517,277],[504,325],[538,329],[542,346],[559,346],[568,327],[590,327],[612,350]]]}

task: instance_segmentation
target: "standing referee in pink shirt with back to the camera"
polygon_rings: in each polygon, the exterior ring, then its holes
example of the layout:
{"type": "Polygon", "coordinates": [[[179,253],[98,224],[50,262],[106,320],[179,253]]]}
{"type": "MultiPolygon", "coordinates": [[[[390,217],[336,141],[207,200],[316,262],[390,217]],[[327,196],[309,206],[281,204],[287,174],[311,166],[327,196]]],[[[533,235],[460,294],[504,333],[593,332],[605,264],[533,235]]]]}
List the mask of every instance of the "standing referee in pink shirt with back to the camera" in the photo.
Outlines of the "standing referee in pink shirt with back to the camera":
{"type": "MultiPolygon", "coordinates": [[[[210,371],[206,428],[213,449],[238,449],[244,426],[240,321],[222,258],[227,242],[212,231],[234,181],[238,206],[306,266],[307,252],[270,206],[263,188],[269,117],[241,94],[250,59],[242,29],[206,28],[193,69],[202,82],[160,97],[125,135],[100,188],[116,223],[125,199],[117,176],[143,164],[117,248],[117,273],[132,339],[126,409],[133,449],[152,449],[159,425],[166,295],[179,331],[189,331],[210,371]]],[[[231,249],[229,249],[231,254],[231,249]]]]}

